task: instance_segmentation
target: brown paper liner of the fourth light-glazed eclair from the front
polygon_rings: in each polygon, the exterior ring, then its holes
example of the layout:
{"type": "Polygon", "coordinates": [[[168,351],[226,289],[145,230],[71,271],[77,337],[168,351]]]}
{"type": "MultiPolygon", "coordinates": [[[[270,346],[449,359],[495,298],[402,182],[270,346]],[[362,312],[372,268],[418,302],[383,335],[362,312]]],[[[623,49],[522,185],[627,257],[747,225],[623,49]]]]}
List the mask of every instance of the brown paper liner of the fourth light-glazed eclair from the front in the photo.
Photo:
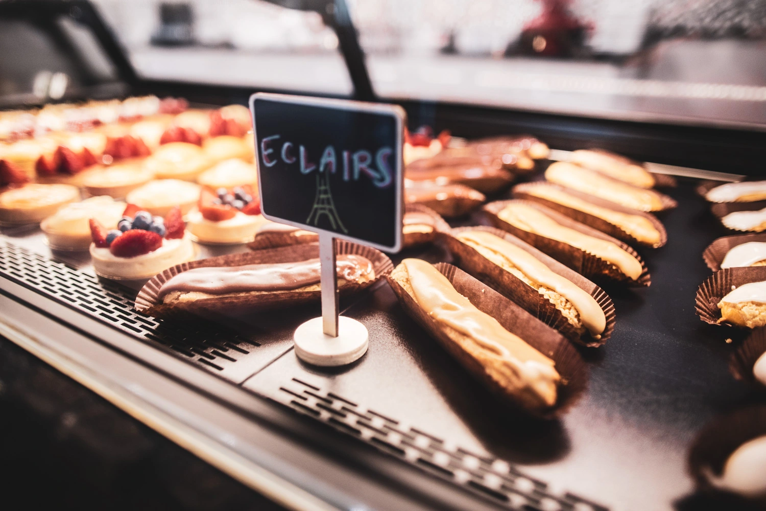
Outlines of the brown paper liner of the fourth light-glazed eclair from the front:
{"type": "Polygon", "coordinates": [[[537,202],[538,204],[542,204],[549,209],[558,211],[559,213],[562,213],[563,215],[566,215],[569,218],[575,219],[581,224],[590,225],[591,227],[597,228],[599,231],[604,232],[605,234],[614,236],[617,239],[622,241],[643,244],[653,248],[662,247],[668,241],[668,234],[667,234],[667,231],[665,230],[665,226],[658,218],[656,218],[656,216],[652,215],[651,213],[646,213],[644,211],[637,211],[635,209],[625,208],[624,206],[615,204],[614,202],[605,201],[603,198],[597,198],[597,197],[594,197],[593,195],[577,192],[576,190],[572,190],[571,188],[565,188],[563,186],[553,185],[551,183],[544,184],[545,186],[552,186],[552,187],[558,188],[559,190],[563,192],[567,192],[569,195],[572,195],[573,197],[581,198],[584,201],[591,202],[592,204],[601,206],[603,208],[609,208],[614,211],[619,211],[620,213],[626,213],[628,215],[638,215],[638,216],[642,216],[643,218],[647,218],[647,220],[652,223],[654,228],[656,228],[656,230],[660,232],[660,243],[653,244],[653,245],[649,245],[641,241],[638,241],[635,237],[631,236],[630,234],[627,234],[627,232],[617,227],[617,225],[611,224],[607,222],[606,220],[603,220],[602,218],[598,218],[594,215],[589,215],[588,213],[584,213],[583,211],[580,211],[578,209],[568,208],[567,206],[558,204],[558,202],[548,201],[548,200],[545,200],[544,198],[535,197],[534,195],[531,195],[527,192],[529,188],[531,188],[532,186],[541,186],[541,185],[543,184],[542,183],[522,183],[521,185],[516,185],[512,189],[513,196],[515,198],[523,198],[529,201],[537,202]]]}

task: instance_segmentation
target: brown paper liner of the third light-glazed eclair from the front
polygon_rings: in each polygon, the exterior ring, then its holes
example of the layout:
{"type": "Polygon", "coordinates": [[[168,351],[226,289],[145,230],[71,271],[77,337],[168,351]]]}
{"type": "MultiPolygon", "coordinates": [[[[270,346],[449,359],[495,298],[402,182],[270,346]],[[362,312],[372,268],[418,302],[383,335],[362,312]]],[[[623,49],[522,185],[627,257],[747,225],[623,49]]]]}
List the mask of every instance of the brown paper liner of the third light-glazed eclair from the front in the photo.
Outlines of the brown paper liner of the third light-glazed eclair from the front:
{"type": "Polygon", "coordinates": [[[611,280],[614,282],[625,283],[628,286],[649,286],[652,283],[652,277],[647,269],[647,264],[643,262],[640,255],[633,250],[624,241],[620,241],[615,237],[611,237],[608,234],[604,234],[597,229],[588,227],[588,225],[581,224],[578,221],[572,220],[566,215],[561,215],[558,211],[554,211],[551,208],[546,208],[544,205],[538,202],[526,201],[522,199],[511,199],[507,201],[494,201],[483,207],[486,218],[494,224],[496,228],[500,228],[503,231],[509,232],[514,236],[520,238],[522,241],[526,241],[532,247],[537,248],[539,251],[545,252],[549,256],[558,260],[560,263],[565,264],[572,270],[575,270],[583,277],[596,280],[611,280]],[[530,208],[535,208],[538,211],[542,211],[545,215],[553,218],[559,224],[574,229],[575,231],[588,236],[597,237],[604,241],[611,241],[618,247],[626,251],[628,254],[635,257],[641,264],[643,272],[639,275],[637,280],[633,280],[626,274],[622,273],[614,264],[601,259],[601,257],[588,254],[586,251],[581,251],[577,247],[572,247],[570,244],[563,243],[561,241],[553,240],[549,237],[535,234],[532,232],[524,231],[514,227],[512,224],[502,220],[497,215],[500,211],[506,208],[511,203],[519,203],[527,205],[530,208]]]}

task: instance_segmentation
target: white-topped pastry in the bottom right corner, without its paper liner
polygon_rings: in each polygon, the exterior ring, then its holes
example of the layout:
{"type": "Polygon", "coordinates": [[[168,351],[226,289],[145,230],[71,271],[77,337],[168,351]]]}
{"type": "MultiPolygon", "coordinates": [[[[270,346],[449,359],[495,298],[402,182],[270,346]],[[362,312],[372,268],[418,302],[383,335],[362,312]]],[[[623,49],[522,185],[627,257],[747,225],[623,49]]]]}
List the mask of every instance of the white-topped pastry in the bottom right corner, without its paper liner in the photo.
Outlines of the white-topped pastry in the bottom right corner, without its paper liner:
{"type": "Polygon", "coordinates": [[[748,497],[766,495],[766,435],[741,444],[723,467],[721,477],[710,474],[713,486],[748,497]]]}

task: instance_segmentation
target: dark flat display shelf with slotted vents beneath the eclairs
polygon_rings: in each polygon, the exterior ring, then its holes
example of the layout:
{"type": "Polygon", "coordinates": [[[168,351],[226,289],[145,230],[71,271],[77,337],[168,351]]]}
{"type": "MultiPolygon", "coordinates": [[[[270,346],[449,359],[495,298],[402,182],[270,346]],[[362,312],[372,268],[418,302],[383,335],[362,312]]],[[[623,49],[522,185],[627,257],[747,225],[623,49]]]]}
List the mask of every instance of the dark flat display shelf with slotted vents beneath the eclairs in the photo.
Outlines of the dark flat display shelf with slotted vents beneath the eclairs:
{"type": "MultiPolygon", "coordinates": [[[[696,288],[710,275],[702,251],[725,234],[694,185],[689,179],[666,189],[679,203],[660,215],[668,242],[639,249],[651,286],[602,286],[617,310],[614,333],[605,346],[578,348],[591,369],[588,390],[555,421],[523,418],[493,398],[404,313],[385,282],[342,300],[344,314],[368,327],[370,347],[339,369],[305,365],[292,351],[294,329],[319,314],[318,303],[230,317],[225,325],[155,320],[133,310],[135,289],[97,278],[87,260],[51,253],[36,230],[3,231],[0,285],[28,305],[49,306],[64,323],[100,326],[90,334],[106,344],[117,331],[191,362],[201,371],[179,379],[192,388],[207,373],[276,401],[286,417],[336,438],[335,447],[325,444],[328,456],[357,444],[365,459],[385,453],[394,470],[372,462],[367,469],[388,491],[434,492],[413,482],[422,477],[446,485],[442,493],[457,489],[473,509],[701,509],[709,500],[692,495],[689,444],[716,414],[756,398],[728,373],[736,342],[724,342],[694,312],[696,288]]],[[[486,222],[474,214],[459,223],[486,222]]],[[[213,255],[207,250],[200,256],[213,255]]],[[[440,246],[392,260],[403,257],[450,261],[440,246]]],[[[172,372],[161,360],[144,361],[172,372]]]]}

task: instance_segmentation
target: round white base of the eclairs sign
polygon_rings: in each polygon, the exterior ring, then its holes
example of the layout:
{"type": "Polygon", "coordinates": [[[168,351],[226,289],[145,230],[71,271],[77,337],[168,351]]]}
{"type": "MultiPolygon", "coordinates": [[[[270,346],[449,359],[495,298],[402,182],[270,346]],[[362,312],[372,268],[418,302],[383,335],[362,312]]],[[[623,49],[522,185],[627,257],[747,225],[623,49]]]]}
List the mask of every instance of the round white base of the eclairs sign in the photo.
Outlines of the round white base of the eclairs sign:
{"type": "Polygon", "coordinates": [[[338,336],[330,337],[322,331],[322,318],[309,319],[299,326],[295,334],[295,354],[303,362],[335,367],[354,362],[367,352],[367,327],[356,319],[338,317],[338,336]]]}

